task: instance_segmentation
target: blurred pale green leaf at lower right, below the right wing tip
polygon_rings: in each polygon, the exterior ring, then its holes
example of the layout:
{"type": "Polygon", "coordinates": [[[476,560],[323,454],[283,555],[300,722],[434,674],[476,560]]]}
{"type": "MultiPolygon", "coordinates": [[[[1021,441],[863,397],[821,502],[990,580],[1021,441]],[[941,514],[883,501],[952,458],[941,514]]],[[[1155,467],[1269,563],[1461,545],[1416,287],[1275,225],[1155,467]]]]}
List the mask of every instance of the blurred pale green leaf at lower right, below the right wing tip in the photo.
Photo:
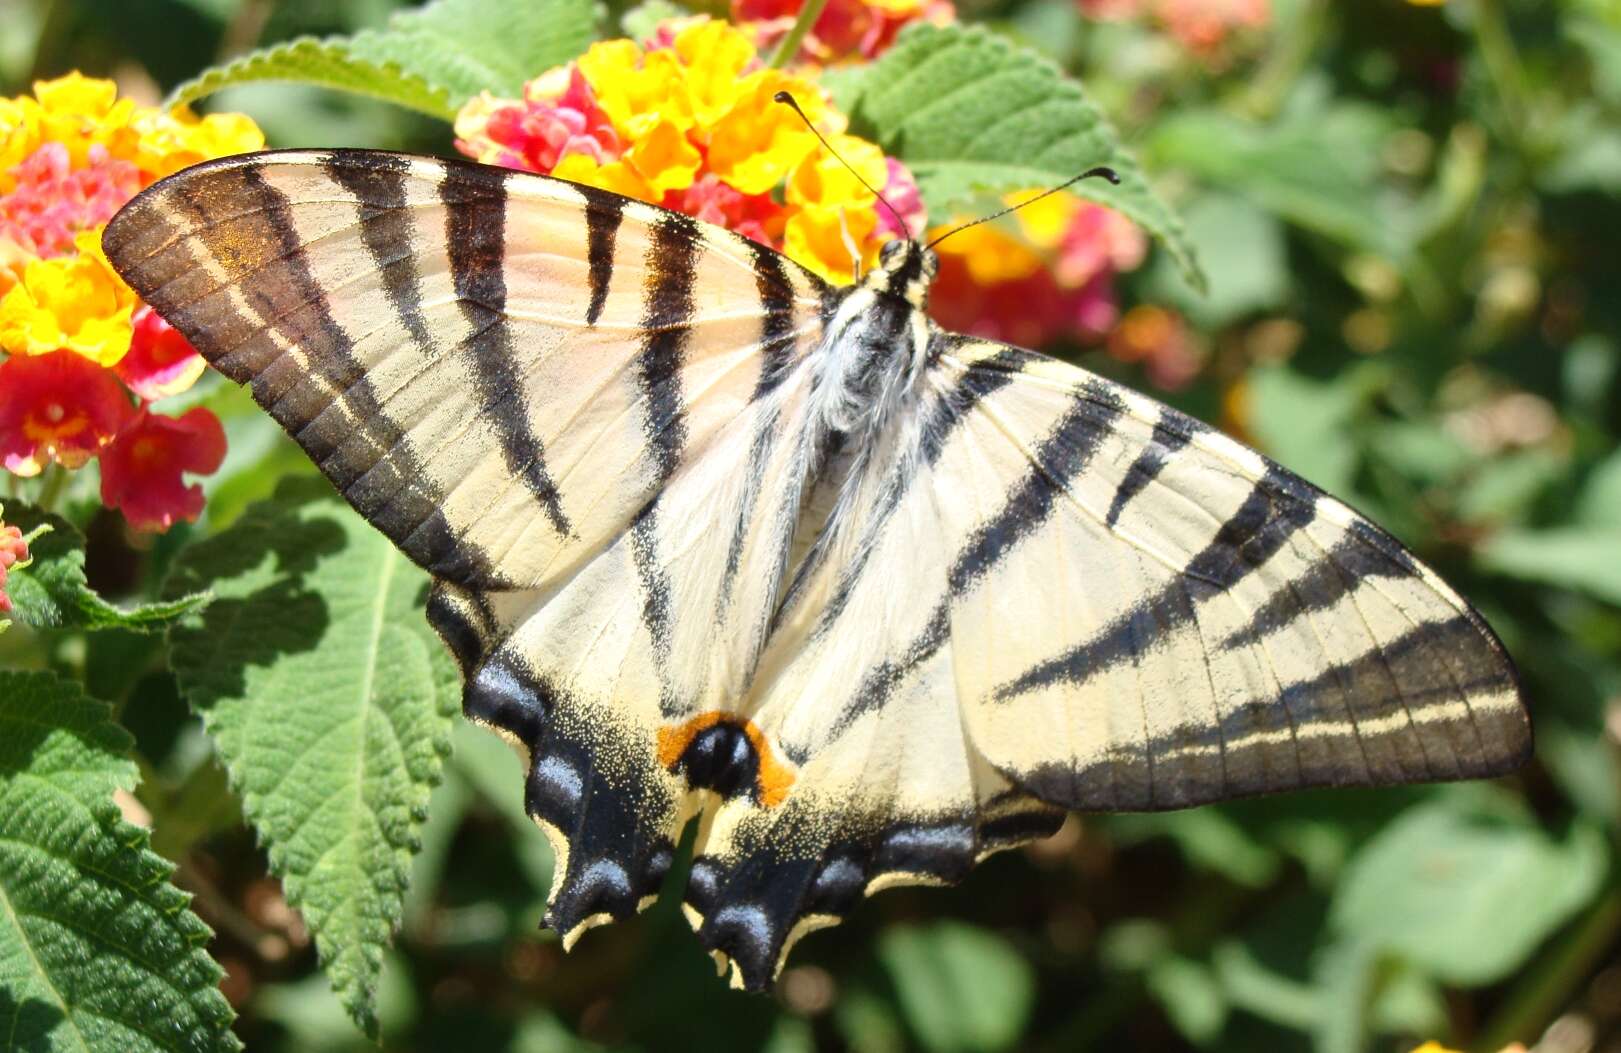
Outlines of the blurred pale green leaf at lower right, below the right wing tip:
{"type": "Polygon", "coordinates": [[[1589,826],[1556,841],[1527,816],[1462,800],[1412,808],[1370,841],[1329,919],[1438,980],[1495,983],[1598,893],[1608,852],[1589,826]]]}

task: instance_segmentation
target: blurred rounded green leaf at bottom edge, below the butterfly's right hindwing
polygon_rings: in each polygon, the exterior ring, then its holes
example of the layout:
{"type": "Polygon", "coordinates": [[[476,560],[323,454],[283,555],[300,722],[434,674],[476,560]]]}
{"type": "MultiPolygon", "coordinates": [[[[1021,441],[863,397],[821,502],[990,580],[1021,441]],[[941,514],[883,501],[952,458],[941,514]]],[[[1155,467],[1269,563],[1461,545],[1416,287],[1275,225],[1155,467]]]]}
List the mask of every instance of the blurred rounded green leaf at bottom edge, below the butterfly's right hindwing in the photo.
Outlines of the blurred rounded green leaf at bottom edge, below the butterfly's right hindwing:
{"type": "Polygon", "coordinates": [[[930,1053],[1005,1050],[1024,1032],[1036,980],[1000,936],[960,922],[896,927],[883,933],[879,957],[930,1053]]]}

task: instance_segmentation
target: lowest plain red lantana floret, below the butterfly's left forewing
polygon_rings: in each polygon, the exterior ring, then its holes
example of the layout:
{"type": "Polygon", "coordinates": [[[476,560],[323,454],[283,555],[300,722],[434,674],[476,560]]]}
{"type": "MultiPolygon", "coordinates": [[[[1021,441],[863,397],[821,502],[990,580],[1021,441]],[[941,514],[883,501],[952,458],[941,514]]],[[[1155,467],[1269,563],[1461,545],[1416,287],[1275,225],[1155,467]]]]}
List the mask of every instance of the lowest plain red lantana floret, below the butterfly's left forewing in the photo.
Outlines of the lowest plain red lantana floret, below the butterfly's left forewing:
{"type": "Polygon", "coordinates": [[[225,429],[198,407],[180,416],[139,415],[102,450],[102,504],[118,509],[136,530],[169,530],[196,522],[203,488],[182,473],[211,475],[225,460],[225,429]]]}

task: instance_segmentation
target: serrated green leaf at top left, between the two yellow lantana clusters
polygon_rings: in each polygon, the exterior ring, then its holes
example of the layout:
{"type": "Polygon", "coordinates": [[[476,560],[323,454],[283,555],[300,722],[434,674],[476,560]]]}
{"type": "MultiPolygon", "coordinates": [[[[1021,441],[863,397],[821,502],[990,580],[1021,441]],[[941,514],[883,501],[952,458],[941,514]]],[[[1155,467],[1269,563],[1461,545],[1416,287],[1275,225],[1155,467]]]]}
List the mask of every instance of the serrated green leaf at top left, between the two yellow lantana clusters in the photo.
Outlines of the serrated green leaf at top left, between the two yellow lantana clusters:
{"type": "Polygon", "coordinates": [[[517,96],[595,39],[590,0],[436,0],[383,29],[300,37],[206,70],[170,96],[191,102],[230,84],[297,81],[386,99],[451,120],[481,91],[517,96]]]}

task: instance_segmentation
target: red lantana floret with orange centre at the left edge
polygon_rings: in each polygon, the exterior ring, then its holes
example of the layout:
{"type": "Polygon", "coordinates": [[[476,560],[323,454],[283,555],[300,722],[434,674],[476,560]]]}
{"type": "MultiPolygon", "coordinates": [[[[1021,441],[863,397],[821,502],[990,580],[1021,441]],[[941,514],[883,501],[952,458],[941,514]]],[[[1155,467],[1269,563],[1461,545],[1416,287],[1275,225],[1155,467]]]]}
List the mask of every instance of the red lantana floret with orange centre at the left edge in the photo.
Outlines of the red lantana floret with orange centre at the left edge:
{"type": "Polygon", "coordinates": [[[118,379],[75,352],[0,361],[0,463],[39,475],[49,462],[78,468],[135,416],[118,379]]]}

